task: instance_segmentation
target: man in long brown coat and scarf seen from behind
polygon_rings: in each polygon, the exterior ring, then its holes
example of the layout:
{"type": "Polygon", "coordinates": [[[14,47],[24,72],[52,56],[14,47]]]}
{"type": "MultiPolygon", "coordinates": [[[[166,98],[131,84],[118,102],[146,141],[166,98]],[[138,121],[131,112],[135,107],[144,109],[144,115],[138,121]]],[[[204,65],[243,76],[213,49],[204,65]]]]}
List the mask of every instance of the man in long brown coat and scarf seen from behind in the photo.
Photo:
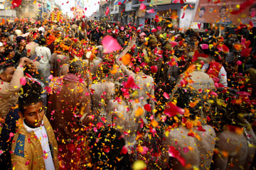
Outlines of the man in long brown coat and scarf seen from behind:
{"type": "Polygon", "coordinates": [[[91,115],[91,98],[86,84],[79,77],[82,71],[82,62],[72,60],[68,75],[52,79],[48,89],[47,117],[60,148],[60,169],[85,168],[89,159],[86,143],[82,140],[86,135],[82,124],[91,121],[88,117],[91,115]]]}

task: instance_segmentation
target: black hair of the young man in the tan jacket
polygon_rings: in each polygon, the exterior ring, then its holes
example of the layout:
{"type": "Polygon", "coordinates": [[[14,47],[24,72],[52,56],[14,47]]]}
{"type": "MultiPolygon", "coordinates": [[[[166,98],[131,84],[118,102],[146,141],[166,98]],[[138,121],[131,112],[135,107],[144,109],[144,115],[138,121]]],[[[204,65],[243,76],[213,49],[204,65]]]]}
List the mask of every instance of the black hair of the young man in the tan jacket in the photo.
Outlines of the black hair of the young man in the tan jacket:
{"type": "Polygon", "coordinates": [[[41,98],[42,86],[37,81],[28,81],[22,86],[20,96],[18,97],[18,109],[24,114],[25,107],[39,102],[43,102],[41,98]]]}

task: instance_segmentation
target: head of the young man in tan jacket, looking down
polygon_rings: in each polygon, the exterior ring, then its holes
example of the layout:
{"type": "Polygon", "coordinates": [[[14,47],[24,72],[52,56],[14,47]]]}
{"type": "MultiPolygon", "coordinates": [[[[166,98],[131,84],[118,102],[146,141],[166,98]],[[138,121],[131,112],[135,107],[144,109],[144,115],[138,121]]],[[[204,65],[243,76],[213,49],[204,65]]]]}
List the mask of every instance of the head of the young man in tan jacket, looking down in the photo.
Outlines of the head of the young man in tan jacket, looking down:
{"type": "Polygon", "coordinates": [[[42,87],[38,82],[28,81],[23,86],[23,94],[18,97],[18,115],[30,128],[38,128],[43,123],[44,107],[41,92],[42,87]]]}

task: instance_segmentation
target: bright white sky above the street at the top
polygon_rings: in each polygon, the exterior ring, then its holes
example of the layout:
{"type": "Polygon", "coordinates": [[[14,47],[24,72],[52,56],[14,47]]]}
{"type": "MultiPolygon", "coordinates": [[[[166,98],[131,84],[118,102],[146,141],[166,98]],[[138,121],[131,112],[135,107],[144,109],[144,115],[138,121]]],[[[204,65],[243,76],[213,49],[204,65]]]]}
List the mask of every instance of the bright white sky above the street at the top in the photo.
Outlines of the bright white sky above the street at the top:
{"type": "MultiPolygon", "coordinates": [[[[75,6],[75,0],[55,0],[58,4],[60,4],[63,14],[68,12],[68,16],[73,16],[73,12],[70,11],[70,8],[75,6]]],[[[79,0],[78,0],[79,1],[79,0]]],[[[92,13],[95,13],[99,8],[99,1],[100,0],[80,0],[84,1],[85,6],[84,9],[87,8],[85,11],[85,16],[91,16],[92,13]]]]}

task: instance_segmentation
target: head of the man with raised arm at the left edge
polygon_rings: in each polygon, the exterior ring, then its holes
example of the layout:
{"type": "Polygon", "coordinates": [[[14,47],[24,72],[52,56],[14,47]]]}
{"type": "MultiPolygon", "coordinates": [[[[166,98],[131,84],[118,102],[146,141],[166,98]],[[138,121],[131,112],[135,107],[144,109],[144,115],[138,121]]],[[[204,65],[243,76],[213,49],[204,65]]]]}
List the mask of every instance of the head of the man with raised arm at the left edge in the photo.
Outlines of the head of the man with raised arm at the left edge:
{"type": "Polygon", "coordinates": [[[6,82],[11,82],[15,68],[12,64],[3,64],[0,66],[0,79],[6,82]]]}

